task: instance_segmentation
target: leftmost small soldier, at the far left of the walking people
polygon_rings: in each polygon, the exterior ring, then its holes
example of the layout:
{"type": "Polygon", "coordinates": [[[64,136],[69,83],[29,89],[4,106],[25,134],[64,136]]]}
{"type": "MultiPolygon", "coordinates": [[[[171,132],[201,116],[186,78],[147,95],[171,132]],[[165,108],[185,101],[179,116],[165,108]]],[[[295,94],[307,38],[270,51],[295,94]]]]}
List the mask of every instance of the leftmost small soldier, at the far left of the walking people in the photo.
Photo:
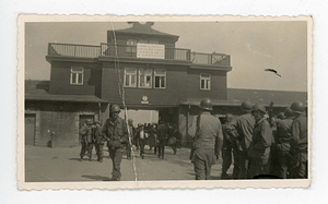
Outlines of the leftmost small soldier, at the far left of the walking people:
{"type": "Polygon", "coordinates": [[[89,160],[92,160],[92,130],[91,130],[92,121],[90,119],[85,120],[83,127],[80,129],[81,134],[81,153],[80,157],[81,160],[83,159],[83,156],[87,152],[89,160]]]}

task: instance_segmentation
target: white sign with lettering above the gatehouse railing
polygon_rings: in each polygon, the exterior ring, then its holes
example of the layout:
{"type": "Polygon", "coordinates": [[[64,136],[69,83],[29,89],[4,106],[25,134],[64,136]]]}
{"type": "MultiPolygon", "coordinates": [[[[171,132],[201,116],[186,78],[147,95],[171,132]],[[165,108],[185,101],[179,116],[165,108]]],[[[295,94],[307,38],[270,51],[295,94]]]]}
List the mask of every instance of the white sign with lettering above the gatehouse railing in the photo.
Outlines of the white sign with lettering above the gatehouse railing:
{"type": "Polygon", "coordinates": [[[137,44],[137,58],[165,59],[165,46],[154,44],[137,44]]]}

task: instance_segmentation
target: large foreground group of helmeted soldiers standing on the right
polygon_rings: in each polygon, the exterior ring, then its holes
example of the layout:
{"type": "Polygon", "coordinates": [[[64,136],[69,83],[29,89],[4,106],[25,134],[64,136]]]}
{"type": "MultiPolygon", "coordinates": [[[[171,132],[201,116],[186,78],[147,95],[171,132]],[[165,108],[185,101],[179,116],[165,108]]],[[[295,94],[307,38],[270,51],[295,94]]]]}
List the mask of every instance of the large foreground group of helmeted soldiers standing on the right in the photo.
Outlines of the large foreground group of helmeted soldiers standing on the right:
{"type": "Polygon", "coordinates": [[[295,101],[279,113],[274,124],[263,106],[250,101],[241,105],[237,118],[226,115],[224,124],[211,116],[211,99],[201,100],[200,108],[189,128],[196,180],[210,179],[220,149],[222,179],[230,178],[226,172],[232,157],[233,179],[307,178],[307,115],[302,103],[295,101]]]}

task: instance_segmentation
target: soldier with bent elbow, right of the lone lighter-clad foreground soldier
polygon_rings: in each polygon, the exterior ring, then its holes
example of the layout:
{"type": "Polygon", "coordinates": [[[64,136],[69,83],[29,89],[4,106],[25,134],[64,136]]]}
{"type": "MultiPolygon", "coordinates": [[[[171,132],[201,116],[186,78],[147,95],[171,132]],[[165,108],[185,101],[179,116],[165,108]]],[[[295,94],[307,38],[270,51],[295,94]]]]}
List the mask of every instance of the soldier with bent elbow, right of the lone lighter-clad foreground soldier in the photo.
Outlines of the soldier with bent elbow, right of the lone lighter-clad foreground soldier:
{"type": "MultiPolygon", "coordinates": [[[[250,101],[244,101],[241,105],[243,115],[237,117],[226,127],[226,132],[236,139],[237,154],[238,154],[238,178],[246,179],[248,175],[249,158],[247,151],[253,140],[253,130],[255,125],[255,119],[251,116],[253,106],[250,101]]],[[[236,169],[237,170],[237,169],[236,169]]]]}

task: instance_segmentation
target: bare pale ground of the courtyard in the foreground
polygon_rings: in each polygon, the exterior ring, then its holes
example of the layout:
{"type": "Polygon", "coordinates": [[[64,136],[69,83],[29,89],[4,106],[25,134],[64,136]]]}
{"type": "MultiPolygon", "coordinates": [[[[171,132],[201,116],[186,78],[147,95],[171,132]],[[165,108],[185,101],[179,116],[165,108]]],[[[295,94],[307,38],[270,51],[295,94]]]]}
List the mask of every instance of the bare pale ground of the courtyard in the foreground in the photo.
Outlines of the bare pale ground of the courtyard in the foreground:
{"type": "MultiPolygon", "coordinates": [[[[104,147],[104,161],[96,161],[93,149],[93,161],[85,156],[80,160],[80,146],[63,147],[25,147],[25,181],[26,182],[51,182],[51,181],[106,181],[112,177],[112,160],[108,157],[107,147],[104,147]]],[[[153,151],[145,146],[144,159],[139,152],[134,151],[134,166],[137,179],[147,180],[194,180],[194,166],[189,158],[189,148],[179,148],[177,155],[171,147],[165,147],[165,158],[160,159],[153,151]]],[[[222,159],[216,160],[212,167],[212,179],[218,180],[221,176],[222,159]]],[[[231,167],[232,169],[232,167],[231,167]]],[[[231,169],[229,173],[231,173],[231,169]]],[[[127,160],[124,154],[121,161],[121,180],[136,180],[133,159],[127,160]]]]}

